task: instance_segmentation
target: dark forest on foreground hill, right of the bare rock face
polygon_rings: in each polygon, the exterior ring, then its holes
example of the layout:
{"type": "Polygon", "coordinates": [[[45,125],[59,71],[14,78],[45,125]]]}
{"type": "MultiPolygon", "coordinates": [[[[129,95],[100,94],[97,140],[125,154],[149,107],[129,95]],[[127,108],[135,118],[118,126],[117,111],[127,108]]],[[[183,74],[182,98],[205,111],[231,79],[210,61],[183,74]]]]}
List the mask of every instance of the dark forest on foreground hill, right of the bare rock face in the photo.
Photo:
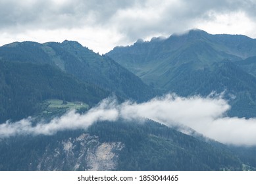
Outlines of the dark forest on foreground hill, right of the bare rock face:
{"type": "Polygon", "coordinates": [[[118,170],[241,170],[227,148],[214,147],[169,127],[147,121],[99,122],[88,131],[101,141],[120,141],[118,170]]]}

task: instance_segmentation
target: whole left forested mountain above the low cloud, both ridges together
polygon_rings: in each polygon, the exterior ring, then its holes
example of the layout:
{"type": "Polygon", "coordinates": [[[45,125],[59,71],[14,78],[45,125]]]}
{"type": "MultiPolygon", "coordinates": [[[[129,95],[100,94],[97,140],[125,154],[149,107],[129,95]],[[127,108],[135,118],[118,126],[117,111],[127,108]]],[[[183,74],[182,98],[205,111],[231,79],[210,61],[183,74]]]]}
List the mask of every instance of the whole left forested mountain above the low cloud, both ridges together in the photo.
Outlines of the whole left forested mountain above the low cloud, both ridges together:
{"type": "Polygon", "coordinates": [[[97,55],[76,41],[4,45],[0,47],[0,64],[0,99],[4,102],[0,104],[0,122],[33,116],[47,99],[93,106],[110,94],[136,101],[156,94],[111,58],[97,55]]]}

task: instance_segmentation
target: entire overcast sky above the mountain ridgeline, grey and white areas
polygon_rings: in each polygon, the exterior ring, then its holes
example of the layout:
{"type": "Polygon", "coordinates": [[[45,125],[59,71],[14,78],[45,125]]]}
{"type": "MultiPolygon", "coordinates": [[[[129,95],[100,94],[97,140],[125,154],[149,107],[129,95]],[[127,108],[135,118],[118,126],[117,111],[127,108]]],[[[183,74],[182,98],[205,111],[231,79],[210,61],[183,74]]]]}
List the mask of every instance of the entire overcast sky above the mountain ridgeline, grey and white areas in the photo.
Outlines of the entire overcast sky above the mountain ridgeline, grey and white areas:
{"type": "Polygon", "coordinates": [[[192,28],[256,38],[256,0],[0,0],[0,45],[80,42],[95,53],[192,28]]]}

